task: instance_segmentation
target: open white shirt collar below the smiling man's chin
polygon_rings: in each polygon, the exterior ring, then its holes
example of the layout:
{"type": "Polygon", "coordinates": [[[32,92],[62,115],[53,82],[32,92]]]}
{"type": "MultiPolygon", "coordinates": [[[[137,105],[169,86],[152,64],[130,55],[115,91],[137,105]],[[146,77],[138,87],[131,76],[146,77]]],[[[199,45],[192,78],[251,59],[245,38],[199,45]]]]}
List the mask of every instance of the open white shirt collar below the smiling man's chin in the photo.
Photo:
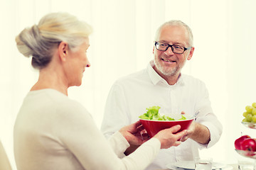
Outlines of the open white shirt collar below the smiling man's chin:
{"type": "MultiPolygon", "coordinates": [[[[149,79],[151,79],[152,83],[154,85],[156,85],[159,82],[162,82],[164,84],[169,85],[165,79],[163,79],[161,76],[159,76],[159,74],[156,73],[156,71],[153,69],[154,67],[154,60],[151,60],[147,66],[147,72],[149,74],[149,79]]],[[[180,76],[178,77],[178,81],[176,82],[176,84],[184,84],[183,81],[183,76],[182,74],[180,74],[180,76]]],[[[172,85],[175,86],[176,84],[172,85]]],[[[170,85],[169,85],[170,86],[170,85]]]]}

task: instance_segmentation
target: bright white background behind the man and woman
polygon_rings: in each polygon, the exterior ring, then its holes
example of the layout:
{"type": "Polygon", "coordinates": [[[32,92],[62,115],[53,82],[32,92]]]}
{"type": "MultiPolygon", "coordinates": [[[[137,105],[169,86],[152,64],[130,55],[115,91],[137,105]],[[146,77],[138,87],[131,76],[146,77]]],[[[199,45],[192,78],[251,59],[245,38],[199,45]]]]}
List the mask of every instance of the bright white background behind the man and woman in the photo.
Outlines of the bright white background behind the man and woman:
{"type": "Polygon", "coordinates": [[[144,69],[152,59],[156,28],[180,19],[191,26],[195,52],[183,72],[206,82],[223,136],[201,154],[215,161],[237,157],[240,133],[256,137],[240,123],[256,101],[256,2],[254,0],[5,0],[0,2],[0,140],[15,169],[12,130],[23,97],[37,80],[30,60],[16,50],[15,36],[46,13],[67,11],[90,23],[89,59],[83,84],[69,90],[100,127],[110,86],[118,77],[144,69]]]}

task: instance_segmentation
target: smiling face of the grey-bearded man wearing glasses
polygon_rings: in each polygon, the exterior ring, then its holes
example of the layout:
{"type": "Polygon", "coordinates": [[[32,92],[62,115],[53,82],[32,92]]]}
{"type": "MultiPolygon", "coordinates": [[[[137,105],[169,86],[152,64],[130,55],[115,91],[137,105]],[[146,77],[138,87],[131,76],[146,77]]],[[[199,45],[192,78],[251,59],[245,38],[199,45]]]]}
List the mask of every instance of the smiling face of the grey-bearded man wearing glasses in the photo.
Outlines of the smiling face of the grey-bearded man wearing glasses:
{"type": "MultiPolygon", "coordinates": [[[[183,26],[164,26],[160,33],[158,42],[165,42],[169,45],[188,46],[188,33],[183,26]]],[[[194,48],[186,50],[183,54],[172,52],[171,47],[166,51],[157,50],[154,46],[154,68],[161,77],[178,77],[186,60],[191,60],[194,48]]]]}

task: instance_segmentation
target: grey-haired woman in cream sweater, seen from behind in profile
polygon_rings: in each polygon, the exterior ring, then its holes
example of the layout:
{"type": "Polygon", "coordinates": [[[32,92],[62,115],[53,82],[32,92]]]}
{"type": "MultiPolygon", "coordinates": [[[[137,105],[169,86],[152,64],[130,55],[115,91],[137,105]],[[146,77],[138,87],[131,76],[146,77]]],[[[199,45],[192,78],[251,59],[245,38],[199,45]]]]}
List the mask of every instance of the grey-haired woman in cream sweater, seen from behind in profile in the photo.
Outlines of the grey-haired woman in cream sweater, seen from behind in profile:
{"type": "Polygon", "coordinates": [[[14,127],[18,170],[145,169],[159,149],[178,146],[186,135],[186,130],[174,134],[177,125],[144,141],[138,137],[143,128],[137,122],[105,139],[90,113],[68,98],[68,87],[80,86],[90,67],[86,51],[91,32],[75,16],[49,13],[16,37],[18,50],[32,56],[32,66],[39,69],[14,127]],[[141,146],[125,157],[130,144],[141,146]]]}

